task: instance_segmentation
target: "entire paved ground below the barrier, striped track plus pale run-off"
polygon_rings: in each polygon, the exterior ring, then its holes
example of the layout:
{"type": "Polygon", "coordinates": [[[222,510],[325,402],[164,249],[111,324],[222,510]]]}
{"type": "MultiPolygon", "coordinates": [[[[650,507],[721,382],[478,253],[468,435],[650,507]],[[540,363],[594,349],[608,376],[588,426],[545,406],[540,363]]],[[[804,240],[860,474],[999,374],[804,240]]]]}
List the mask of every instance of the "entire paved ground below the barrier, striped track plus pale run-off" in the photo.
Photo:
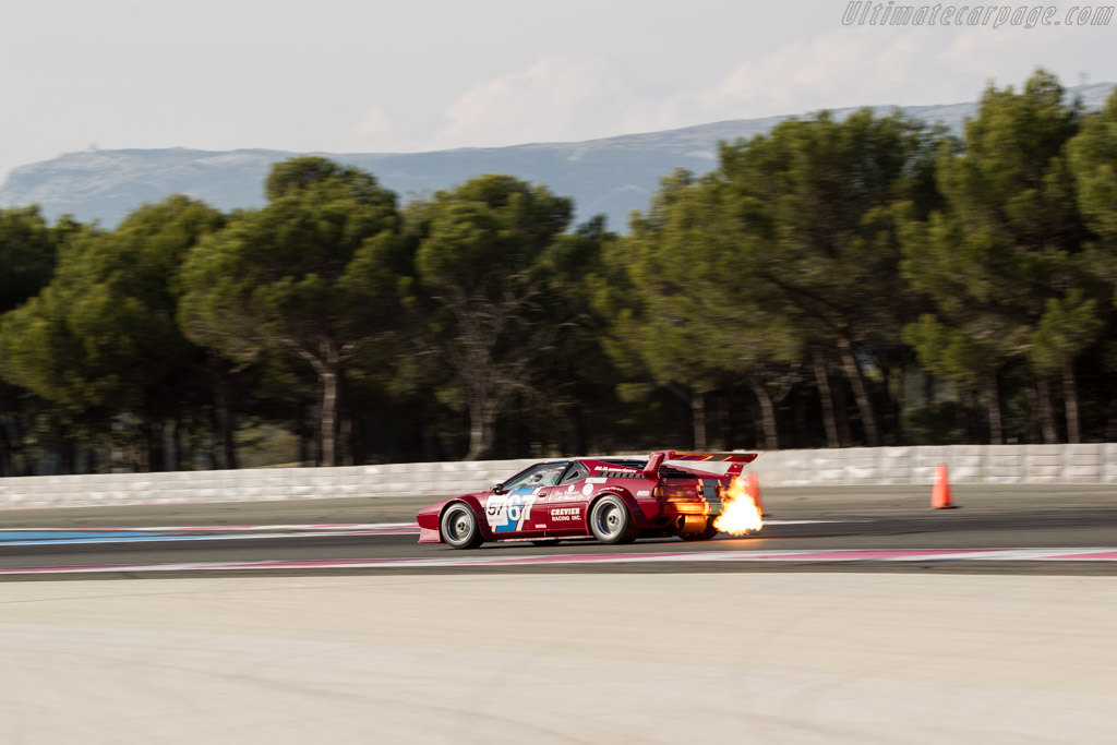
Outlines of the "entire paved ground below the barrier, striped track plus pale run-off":
{"type": "Polygon", "coordinates": [[[1117,742],[1117,488],[768,489],[706,543],[424,499],[0,513],[0,742],[1117,742]]]}

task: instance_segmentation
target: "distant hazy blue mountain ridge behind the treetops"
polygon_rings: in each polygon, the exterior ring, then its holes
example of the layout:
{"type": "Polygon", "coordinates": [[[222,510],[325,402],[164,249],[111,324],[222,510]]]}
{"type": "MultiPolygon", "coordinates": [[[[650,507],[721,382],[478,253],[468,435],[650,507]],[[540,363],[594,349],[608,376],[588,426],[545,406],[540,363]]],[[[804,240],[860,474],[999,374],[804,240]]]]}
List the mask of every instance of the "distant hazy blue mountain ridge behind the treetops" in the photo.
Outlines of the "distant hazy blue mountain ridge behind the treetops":
{"type": "MultiPolygon", "coordinates": [[[[1114,84],[1068,89],[1088,108],[1100,107],[1114,84]]],[[[834,109],[839,118],[859,107],[834,109]]],[[[876,106],[887,113],[890,106],[876,106]]],[[[977,103],[907,106],[901,111],[961,131],[977,103]]],[[[633,209],[645,209],[659,180],[677,168],[705,173],[717,164],[717,143],[767,132],[786,116],[732,120],[679,130],[618,135],[585,142],[507,147],[467,147],[424,153],[315,153],[374,173],[403,199],[460,183],[479,173],[510,173],[547,184],[575,200],[579,219],[598,213],[613,230],[627,229],[633,209]]],[[[304,153],[277,150],[93,150],[67,153],[15,169],[0,185],[0,206],[38,203],[56,218],[69,213],[112,227],[143,202],[173,193],[221,210],[264,204],[271,164],[304,153]]]]}

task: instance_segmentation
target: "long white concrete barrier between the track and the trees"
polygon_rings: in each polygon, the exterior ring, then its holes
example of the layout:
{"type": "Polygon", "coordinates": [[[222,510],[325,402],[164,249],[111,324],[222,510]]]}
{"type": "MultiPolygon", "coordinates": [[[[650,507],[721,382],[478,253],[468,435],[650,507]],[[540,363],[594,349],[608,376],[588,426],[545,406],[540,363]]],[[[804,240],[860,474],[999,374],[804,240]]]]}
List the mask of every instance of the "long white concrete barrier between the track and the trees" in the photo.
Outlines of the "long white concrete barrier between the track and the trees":
{"type": "MultiPolygon", "coordinates": [[[[97,474],[0,479],[0,509],[324,497],[451,496],[491,486],[536,462],[386,464],[168,474],[97,474]]],[[[1117,484],[1117,442],[953,445],[779,450],[753,470],[767,487],[930,484],[946,464],[954,484],[1117,484]]]]}

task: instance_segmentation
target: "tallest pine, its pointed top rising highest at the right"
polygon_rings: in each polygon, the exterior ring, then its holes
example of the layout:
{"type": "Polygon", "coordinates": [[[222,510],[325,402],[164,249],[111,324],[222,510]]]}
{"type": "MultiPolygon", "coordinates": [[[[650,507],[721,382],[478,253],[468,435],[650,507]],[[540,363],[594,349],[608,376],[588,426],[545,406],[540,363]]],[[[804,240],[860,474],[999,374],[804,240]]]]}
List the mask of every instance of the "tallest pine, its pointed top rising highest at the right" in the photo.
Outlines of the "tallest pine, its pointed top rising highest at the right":
{"type": "MultiPolygon", "coordinates": [[[[1035,365],[1042,429],[1053,441],[1047,378],[1053,329],[1065,321],[1047,316],[1066,303],[1076,317],[1095,308],[1070,295],[1083,285],[1076,255],[1088,237],[1066,157],[1080,120],[1079,106],[1042,70],[1019,93],[990,87],[962,151],[944,150],[938,161],[945,208],[905,228],[904,275],[935,306],[935,321],[924,318],[908,338],[922,364],[984,392],[994,443],[1004,433],[1000,371],[1013,361],[1035,365]],[[930,333],[936,324],[953,331],[930,333]],[[944,335],[953,352],[934,346],[944,335]],[[1037,342],[1046,346],[1033,350],[1037,342]]],[[[1071,441],[1079,440],[1073,356],[1088,345],[1077,338],[1071,357],[1066,343],[1057,355],[1071,441]]]]}

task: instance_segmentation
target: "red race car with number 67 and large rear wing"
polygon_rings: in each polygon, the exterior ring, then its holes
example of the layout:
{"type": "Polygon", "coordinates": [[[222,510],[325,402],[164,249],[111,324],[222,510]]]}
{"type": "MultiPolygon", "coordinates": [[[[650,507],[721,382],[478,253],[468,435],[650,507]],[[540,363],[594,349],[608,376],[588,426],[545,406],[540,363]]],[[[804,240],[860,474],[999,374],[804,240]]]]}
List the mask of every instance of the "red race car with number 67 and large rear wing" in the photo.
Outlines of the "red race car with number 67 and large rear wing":
{"type": "Polygon", "coordinates": [[[756,453],[676,452],[548,460],[488,491],[443,499],[419,515],[419,543],[475,548],[485,541],[631,543],[677,535],[708,541],[723,497],[756,453]]]}

